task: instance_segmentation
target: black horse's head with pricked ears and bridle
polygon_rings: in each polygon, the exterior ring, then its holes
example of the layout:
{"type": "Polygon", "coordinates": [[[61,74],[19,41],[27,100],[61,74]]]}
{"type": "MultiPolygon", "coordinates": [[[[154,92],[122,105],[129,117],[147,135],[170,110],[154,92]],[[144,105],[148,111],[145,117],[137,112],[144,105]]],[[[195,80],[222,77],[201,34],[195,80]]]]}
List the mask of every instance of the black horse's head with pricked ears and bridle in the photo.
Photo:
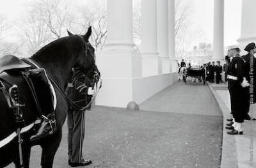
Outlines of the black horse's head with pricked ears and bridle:
{"type": "MultiPolygon", "coordinates": [[[[67,32],[69,36],[74,36],[74,34],[69,31],[67,32]]],[[[83,50],[78,53],[77,60],[73,68],[79,68],[84,73],[88,73],[92,68],[95,68],[95,49],[89,42],[91,34],[92,27],[89,27],[86,34],[76,35],[83,40],[84,47],[83,50]]]]}

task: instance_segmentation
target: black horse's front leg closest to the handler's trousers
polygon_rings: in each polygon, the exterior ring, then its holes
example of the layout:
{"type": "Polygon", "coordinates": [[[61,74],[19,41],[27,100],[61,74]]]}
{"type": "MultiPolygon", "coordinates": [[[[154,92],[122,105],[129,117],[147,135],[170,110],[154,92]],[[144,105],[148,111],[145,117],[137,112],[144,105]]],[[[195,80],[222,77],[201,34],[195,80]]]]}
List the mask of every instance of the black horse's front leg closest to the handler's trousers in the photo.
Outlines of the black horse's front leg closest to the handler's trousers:
{"type": "Polygon", "coordinates": [[[41,158],[41,166],[42,168],[52,168],[54,156],[56,154],[57,149],[60,146],[62,132],[56,132],[49,141],[51,143],[42,144],[42,158],[41,158]]]}

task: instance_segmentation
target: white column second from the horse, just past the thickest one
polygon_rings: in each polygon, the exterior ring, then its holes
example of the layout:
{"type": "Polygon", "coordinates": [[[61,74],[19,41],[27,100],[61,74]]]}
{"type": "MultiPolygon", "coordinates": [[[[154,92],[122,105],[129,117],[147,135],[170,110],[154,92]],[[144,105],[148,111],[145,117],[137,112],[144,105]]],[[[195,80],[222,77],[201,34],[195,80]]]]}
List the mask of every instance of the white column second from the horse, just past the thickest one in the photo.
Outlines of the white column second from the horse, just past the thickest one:
{"type": "Polygon", "coordinates": [[[158,74],[156,0],[141,0],[142,76],[158,74]]]}

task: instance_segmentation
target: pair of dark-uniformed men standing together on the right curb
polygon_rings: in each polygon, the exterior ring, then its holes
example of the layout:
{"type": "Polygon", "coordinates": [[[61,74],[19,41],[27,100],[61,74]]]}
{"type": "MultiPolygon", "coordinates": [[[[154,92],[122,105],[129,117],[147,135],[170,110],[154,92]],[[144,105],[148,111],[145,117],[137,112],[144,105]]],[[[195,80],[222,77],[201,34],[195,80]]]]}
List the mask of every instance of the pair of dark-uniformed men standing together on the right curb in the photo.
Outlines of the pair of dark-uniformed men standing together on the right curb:
{"type": "Polygon", "coordinates": [[[232,118],[227,119],[230,123],[226,128],[231,135],[243,134],[242,123],[244,119],[250,120],[250,105],[255,103],[256,99],[256,53],[255,43],[249,43],[245,49],[248,54],[240,56],[239,48],[228,50],[228,58],[231,59],[227,67],[228,90],[231,100],[232,118]]]}

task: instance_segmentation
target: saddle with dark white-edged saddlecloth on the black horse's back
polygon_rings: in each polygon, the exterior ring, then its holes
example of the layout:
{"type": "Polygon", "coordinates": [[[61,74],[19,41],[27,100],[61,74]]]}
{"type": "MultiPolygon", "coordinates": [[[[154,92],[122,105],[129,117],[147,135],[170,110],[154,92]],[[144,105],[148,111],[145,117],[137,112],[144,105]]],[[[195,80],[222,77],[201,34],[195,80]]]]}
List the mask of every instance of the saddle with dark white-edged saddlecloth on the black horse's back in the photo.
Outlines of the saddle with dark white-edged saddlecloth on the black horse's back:
{"type": "Polygon", "coordinates": [[[22,97],[28,94],[24,91],[29,91],[33,100],[26,102],[35,104],[38,116],[54,111],[53,93],[44,68],[35,68],[16,56],[6,55],[0,58],[0,80],[6,89],[16,84],[22,97]]]}

